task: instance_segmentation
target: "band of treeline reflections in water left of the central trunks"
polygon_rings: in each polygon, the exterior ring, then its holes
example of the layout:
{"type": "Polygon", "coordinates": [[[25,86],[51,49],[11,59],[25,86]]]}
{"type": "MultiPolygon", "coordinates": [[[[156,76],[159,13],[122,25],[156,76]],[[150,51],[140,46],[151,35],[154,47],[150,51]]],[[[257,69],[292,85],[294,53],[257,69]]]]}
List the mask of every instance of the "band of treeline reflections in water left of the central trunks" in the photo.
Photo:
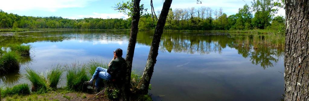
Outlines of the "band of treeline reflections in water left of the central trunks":
{"type": "Polygon", "coordinates": [[[64,30],[0,34],[0,46],[32,42],[61,42],[63,40],[124,41],[129,38],[125,30],[64,30]]]}

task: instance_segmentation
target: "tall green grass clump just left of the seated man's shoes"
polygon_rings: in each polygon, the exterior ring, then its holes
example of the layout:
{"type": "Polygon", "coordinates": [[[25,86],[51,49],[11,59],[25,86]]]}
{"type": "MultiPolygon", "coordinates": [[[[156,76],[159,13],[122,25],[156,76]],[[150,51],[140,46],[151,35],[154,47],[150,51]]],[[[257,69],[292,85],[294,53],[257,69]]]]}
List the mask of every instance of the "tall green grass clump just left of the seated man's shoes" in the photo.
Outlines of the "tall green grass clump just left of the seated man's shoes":
{"type": "Polygon", "coordinates": [[[71,66],[66,65],[65,68],[68,68],[66,73],[67,88],[74,91],[85,91],[87,85],[84,85],[83,83],[88,81],[85,65],[72,63],[71,66]]]}

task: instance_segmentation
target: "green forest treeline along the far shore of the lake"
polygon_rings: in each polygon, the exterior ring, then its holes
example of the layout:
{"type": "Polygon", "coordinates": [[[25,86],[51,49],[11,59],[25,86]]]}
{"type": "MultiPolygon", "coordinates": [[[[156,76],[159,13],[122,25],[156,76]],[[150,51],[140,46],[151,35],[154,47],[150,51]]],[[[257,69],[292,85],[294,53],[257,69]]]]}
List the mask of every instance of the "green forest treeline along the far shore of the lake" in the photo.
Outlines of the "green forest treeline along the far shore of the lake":
{"type": "MultiPolygon", "coordinates": [[[[284,32],[285,18],[274,17],[280,3],[273,0],[253,0],[252,5],[244,5],[233,15],[227,15],[222,8],[210,7],[170,9],[165,24],[166,30],[250,30],[272,29],[284,32]]],[[[159,12],[158,12],[159,13],[159,12]]],[[[140,18],[139,29],[155,29],[156,17],[144,14],[140,18]]],[[[19,16],[0,10],[0,28],[67,28],[67,29],[129,29],[132,18],[83,18],[19,16]]]]}

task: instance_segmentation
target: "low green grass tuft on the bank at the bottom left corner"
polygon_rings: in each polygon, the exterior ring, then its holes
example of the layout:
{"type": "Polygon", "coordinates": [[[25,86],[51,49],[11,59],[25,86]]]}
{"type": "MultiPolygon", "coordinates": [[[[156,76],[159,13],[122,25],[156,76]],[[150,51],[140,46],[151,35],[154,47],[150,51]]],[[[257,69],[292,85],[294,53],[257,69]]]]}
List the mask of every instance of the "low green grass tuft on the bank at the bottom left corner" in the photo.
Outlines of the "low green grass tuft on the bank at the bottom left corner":
{"type": "Polygon", "coordinates": [[[1,89],[1,96],[6,97],[8,95],[28,95],[30,94],[29,85],[27,83],[18,84],[12,88],[7,87],[6,89],[1,89]]]}

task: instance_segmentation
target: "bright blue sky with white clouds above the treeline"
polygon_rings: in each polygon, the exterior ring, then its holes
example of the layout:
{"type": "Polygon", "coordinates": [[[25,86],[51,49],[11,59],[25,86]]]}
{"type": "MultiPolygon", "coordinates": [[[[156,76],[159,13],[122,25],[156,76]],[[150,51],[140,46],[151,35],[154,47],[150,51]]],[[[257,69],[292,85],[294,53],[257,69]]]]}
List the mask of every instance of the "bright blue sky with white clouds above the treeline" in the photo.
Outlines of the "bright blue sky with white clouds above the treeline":
{"type": "MultiPolygon", "coordinates": [[[[5,12],[26,16],[61,16],[63,18],[128,18],[127,15],[113,10],[118,2],[126,0],[0,0],[0,9],[5,12]]],[[[173,0],[171,8],[189,8],[201,6],[210,7],[213,10],[222,7],[227,15],[235,14],[238,8],[246,3],[251,6],[252,0],[173,0]]],[[[141,0],[142,4],[150,10],[150,0],[141,0]]],[[[155,11],[162,8],[163,0],[153,0],[155,11]]],[[[285,15],[284,10],[279,10],[276,15],[285,15]]]]}

